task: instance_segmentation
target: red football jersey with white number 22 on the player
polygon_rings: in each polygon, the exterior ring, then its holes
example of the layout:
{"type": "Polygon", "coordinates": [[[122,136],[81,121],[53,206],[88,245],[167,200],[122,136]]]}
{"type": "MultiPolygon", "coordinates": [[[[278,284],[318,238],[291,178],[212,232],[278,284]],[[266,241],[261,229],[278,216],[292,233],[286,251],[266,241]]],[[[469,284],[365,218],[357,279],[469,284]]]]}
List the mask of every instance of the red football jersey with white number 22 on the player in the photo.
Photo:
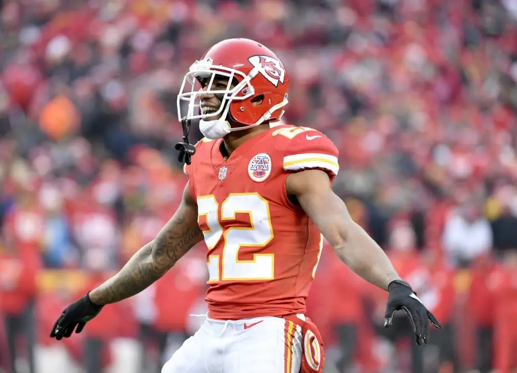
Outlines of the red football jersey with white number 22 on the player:
{"type": "Polygon", "coordinates": [[[304,313],[323,237],[288,199],[285,180],[306,169],[333,180],[338,150],[322,133],[288,125],[247,140],[227,160],[222,141],[201,140],[185,167],[208,247],[208,315],[304,313]]]}

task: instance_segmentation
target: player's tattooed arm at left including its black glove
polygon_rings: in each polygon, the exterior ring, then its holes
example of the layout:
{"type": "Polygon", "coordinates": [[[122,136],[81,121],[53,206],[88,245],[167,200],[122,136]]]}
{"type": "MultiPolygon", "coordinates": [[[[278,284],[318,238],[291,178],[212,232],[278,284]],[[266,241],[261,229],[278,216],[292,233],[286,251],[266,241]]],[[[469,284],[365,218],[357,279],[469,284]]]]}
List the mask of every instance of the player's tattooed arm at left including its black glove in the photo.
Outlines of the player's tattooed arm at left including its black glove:
{"type": "Polygon", "coordinates": [[[54,323],[50,337],[68,338],[74,330],[80,333],[105,304],[140,293],[202,239],[203,233],[197,224],[197,204],[187,184],[176,213],[156,238],[136,252],[111,279],[70,304],[54,323]]]}

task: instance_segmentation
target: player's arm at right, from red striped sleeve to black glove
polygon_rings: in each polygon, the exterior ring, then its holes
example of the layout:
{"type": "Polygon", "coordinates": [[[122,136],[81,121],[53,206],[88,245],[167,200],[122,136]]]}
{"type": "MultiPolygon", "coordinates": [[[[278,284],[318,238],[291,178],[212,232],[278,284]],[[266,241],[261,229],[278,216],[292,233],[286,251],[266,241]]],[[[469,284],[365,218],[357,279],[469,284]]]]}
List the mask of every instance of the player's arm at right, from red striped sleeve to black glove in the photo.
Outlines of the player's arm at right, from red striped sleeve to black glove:
{"type": "MultiPolygon", "coordinates": [[[[286,130],[279,129],[279,134],[280,131],[286,130]]],[[[363,279],[389,291],[385,327],[392,324],[397,310],[404,310],[412,322],[416,342],[427,343],[429,321],[439,328],[438,321],[332,191],[331,181],[339,170],[336,147],[323,134],[309,129],[288,129],[285,135],[294,135],[283,161],[284,170],[290,173],[285,181],[287,194],[296,197],[346,265],[363,279]]]]}

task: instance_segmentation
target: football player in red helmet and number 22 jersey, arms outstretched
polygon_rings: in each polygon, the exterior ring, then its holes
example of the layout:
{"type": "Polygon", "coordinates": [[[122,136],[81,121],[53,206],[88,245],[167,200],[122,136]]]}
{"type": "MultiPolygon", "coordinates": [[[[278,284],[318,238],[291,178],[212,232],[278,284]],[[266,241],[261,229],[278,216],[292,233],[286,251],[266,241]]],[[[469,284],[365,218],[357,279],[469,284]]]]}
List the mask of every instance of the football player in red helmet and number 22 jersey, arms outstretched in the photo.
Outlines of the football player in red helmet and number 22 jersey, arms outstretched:
{"type": "Polygon", "coordinates": [[[385,326],[404,310],[416,342],[427,342],[429,321],[438,321],[332,192],[332,141],[312,128],[271,125],[288,85],[275,53],[248,39],[217,43],[192,64],[178,95],[183,201],[153,241],[59,316],[51,337],[81,332],[104,305],[139,293],[204,239],[207,318],[162,372],[322,371],[321,337],[304,313],[325,237],[346,265],[389,291],[385,326]],[[192,119],[205,136],[195,148],[192,119]]]}

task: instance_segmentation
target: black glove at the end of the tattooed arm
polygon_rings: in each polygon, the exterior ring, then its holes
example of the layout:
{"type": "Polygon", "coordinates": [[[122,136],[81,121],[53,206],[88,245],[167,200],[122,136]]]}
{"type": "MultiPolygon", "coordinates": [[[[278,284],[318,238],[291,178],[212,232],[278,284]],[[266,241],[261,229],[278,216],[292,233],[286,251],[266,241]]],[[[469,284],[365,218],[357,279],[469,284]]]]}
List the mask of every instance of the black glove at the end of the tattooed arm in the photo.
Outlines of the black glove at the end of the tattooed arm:
{"type": "Polygon", "coordinates": [[[88,294],[86,294],[78,301],[66,307],[65,311],[63,311],[54,323],[50,337],[56,338],[57,340],[63,337],[68,338],[72,335],[75,327],[77,327],[75,333],[81,333],[86,322],[97,316],[100,310],[102,310],[102,307],[101,305],[93,303],[88,297],[88,294]]]}

